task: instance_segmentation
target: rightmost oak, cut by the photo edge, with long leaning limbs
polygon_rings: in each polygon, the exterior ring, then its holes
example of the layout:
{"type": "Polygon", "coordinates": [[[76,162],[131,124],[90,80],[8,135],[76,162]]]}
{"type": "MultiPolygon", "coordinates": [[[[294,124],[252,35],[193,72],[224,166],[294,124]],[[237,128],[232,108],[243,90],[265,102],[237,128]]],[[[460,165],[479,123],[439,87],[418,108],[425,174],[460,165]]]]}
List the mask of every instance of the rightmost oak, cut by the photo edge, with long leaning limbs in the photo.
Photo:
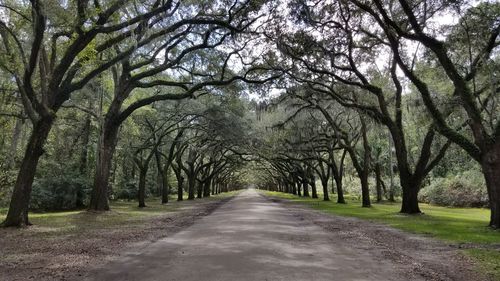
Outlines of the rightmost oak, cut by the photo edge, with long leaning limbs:
{"type": "Polygon", "coordinates": [[[468,7],[467,3],[455,5],[446,1],[410,5],[405,0],[391,7],[380,0],[371,5],[352,3],[376,24],[375,38],[388,46],[397,67],[418,90],[436,130],[481,165],[490,200],[490,226],[499,228],[500,120],[493,113],[499,108],[495,102],[497,82],[491,71],[498,65],[500,5],[485,2],[468,7]],[[451,31],[441,29],[445,40],[439,39],[441,33],[432,26],[432,20],[442,13],[463,13],[451,31]],[[409,57],[411,42],[421,49],[413,52],[414,57],[444,73],[443,78],[451,85],[449,92],[436,92],[432,80],[413,67],[415,58],[409,57]],[[441,100],[451,106],[442,106],[441,100]],[[456,124],[456,118],[467,121],[456,124]]]}

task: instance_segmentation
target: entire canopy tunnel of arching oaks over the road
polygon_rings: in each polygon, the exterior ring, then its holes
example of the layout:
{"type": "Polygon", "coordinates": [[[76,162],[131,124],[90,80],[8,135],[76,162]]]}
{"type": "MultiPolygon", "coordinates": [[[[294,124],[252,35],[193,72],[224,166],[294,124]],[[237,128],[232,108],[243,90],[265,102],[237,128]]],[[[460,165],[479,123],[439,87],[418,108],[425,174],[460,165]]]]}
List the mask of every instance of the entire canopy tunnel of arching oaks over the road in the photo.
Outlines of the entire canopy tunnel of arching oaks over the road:
{"type": "Polygon", "coordinates": [[[407,214],[488,207],[500,228],[498,15],[495,1],[2,0],[2,225],[257,186],[407,214]]]}

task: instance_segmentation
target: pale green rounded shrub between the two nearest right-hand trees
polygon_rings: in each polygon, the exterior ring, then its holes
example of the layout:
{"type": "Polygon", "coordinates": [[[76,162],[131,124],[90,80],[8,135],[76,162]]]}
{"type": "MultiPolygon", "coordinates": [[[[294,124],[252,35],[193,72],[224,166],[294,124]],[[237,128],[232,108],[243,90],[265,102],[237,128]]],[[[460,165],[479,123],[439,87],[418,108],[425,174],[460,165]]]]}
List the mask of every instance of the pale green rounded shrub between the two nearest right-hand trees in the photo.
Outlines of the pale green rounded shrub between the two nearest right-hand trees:
{"type": "Polygon", "coordinates": [[[431,179],[430,185],[420,191],[419,200],[441,206],[488,206],[486,185],[482,174],[477,170],[431,179]]]}

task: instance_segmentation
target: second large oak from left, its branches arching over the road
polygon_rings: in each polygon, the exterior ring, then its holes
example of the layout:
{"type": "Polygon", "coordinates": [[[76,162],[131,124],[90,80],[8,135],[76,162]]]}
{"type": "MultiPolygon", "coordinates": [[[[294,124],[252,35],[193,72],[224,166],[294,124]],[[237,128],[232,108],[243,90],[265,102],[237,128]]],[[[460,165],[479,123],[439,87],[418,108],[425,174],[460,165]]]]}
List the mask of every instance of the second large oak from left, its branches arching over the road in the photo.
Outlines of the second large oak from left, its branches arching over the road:
{"type": "MultiPolygon", "coordinates": [[[[259,75],[266,68],[258,65],[250,65],[240,73],[228,69],[229,62],[246,45],[233,42],[235,46],[231,46],[230,41],[234,41],[231,36],[250,28],[259,17],[250,14],[258,8],[258,5],[248,6],[246,2],[235,2],[224,8],[217,1],[210,5],[179,4],[171,12],[178,14],[177,17],[171,16],[156,23],[154,29],[136,33],[137,40],[141,40],[154,30],[154,36],[161,36],[161,40],[149,48],[137,49],[111,68],[113,100],[101,131],[102,143],[99,146],[90,209],[109,209],[107,186],[118,130],[134,111],[153,102],[195,98],[211,88],[235,81],[264,83],[276,77],[261,78],[259,75]],[[231,50],[221,51],[218,49],[221,46],[231,50]],[[157,87],[162,87],[163,92],[153,91],[140,96],[140,90],[157,87]],[[128,100],[133,102],[124,106],[128,100]]],[[[245,66],[244,63],[242,65],[245,66]]]]}

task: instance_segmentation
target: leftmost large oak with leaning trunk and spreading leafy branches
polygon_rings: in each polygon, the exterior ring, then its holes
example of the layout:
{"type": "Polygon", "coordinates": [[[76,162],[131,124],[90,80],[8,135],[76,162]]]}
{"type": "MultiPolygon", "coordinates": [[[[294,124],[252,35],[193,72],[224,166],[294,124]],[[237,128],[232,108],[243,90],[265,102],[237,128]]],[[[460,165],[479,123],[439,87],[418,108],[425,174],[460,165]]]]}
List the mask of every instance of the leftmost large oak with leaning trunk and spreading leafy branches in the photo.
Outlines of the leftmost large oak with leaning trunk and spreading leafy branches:
{"type": "Polygon", "coordinates": [[[145,37],[134,46],[123,46],[134,32],[153,25],[172,9],[172,1],[145,1],[135,6],[137,9],[124,0],[102,5],[99,1],[77,1],[68,6],[51,3],[51,7],[39,0],[25,3],[3,5],[2,12],[9,17],[0,21],[1,68],[16,82],[33,124],[4,226],[29,224],[28,206],[36,167],[61,106],[94,77],[137,47],[153,41],[154,37],[145,37]],[[25,14],[28,11],[30,15],[25,14]],[[68,15],[76,17],[68,19],[68,15]],[[67,20],[72,24],[59,24],[67,20]],[[55,25],[49,28],[48,22],[55,25]],[[120,51],[99,56],[110,50],[120,51]]]}

